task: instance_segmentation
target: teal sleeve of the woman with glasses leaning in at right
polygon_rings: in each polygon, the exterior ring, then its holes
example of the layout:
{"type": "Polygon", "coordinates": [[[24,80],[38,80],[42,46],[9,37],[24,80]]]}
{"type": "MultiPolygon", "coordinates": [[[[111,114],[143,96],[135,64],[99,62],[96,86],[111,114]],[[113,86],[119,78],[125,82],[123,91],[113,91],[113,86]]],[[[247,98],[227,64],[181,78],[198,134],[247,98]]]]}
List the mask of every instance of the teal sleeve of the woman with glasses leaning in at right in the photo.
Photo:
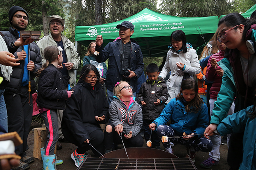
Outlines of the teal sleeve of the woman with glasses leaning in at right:
{"type": "Polygon", "coordinates": [[[214,103],[212,117],[210,123],[219,124],[226,116],[232,105],[235,97],[238,95],[234,80],[233,69],[227,58],[223,58],[218,62],[218,65],[223,69],[222,86],[217,96],[217,101],[214,103]]]}

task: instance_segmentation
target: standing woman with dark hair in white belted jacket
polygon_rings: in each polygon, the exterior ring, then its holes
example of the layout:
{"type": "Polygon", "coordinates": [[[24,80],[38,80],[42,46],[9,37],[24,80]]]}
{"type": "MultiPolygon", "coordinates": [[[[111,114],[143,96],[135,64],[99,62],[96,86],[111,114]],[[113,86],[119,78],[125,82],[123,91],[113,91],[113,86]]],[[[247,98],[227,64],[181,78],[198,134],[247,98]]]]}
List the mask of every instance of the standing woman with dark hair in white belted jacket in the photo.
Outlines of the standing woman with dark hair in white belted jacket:
{"type": "Polygon", "coordinates": [[[186,35],[182,30],[171,34],[170,50],[167,53],[166,62],[159,76],[165,78],[171,71],[166,82],[169,98],[166,104],[180,93],[181,82],[185,78],[193,78],[193,75],[200,73],[201,67],[196,50],[192,45],[186,43],[186,35]],[[184,78],[183,78],[184,77],[184,78]]]}

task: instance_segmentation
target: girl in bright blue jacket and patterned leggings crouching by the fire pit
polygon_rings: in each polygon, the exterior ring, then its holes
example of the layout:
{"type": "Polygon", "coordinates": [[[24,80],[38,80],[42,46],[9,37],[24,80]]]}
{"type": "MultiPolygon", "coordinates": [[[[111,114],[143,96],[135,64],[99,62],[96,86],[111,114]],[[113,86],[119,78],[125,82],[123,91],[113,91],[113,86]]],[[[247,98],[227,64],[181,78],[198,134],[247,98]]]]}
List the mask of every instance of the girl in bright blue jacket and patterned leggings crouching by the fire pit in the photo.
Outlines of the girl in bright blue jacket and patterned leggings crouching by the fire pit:
{"type": "Polygon", "coordinates": [[[162,144],[169,153],[173,153],[170,142],[186,145],[188,155],[195,162],[196,151],[212,150],[212,142],[203,136],[207,125],[208,109],[198,94],[197,82],[187,78],[181,83],[180,94],[168,103],[159,118],[149,125],[149,129],[156,130],[159,137],[183,136],[168,138],[162,144]],[[165,125],[169,120],[171,124],[165,125]]]}

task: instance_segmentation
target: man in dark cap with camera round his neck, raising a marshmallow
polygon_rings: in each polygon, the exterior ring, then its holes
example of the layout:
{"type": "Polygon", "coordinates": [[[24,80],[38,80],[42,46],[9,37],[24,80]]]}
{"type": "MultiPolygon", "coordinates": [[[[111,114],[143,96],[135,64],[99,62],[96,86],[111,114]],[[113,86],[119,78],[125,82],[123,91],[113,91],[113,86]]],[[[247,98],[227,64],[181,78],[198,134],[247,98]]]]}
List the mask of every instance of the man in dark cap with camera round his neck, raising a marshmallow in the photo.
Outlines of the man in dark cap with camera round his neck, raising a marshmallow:
{"type": "Polygon", "coordinates": [[[129,21],[124,21],[117,25],[120,39],[110,42],[103,49],[103,37],[97,35],[96,51],[99,55],[96,57],[97,62],[105,62],[109,58],[107,70],[106,88],[109,104],[114,99],[113,88],[120,80],[130,83],[133,87],[132,92],[136,96],[138,77],[141,76],[144,69],[143,56],[138,44],[130,41],[134,33],[134,25],[129,21]]]}

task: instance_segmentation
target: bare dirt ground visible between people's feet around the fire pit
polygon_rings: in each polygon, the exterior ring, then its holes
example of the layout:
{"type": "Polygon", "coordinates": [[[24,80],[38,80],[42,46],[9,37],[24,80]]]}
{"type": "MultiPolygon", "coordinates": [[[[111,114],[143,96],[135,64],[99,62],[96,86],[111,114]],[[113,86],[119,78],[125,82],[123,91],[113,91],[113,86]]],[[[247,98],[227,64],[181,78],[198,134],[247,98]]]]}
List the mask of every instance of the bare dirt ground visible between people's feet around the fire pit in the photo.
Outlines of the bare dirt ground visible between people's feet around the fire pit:
{"type": "MultiPolygon", "coordinates": [[[[31,129],[34,127],[40,127],[39,124],[33,123],[31,126],[31,129]]],[[[63,164],[58,165],[58,170],[76,170],[77,167],[75,166],[74,161],[71,159],[70,155],[75,151],[76,146],[71,143],[61,143],[63,148],[61,150],[57,150],[57,159],[62,159],[63,164]]],[[[34,148],[34,131],[31,131],[29,133],[28,137],[28,145],[29,149],[27,150],[27,155],[30,157],[33,157],[33,148],[34,148]]],[[[146,147],[146,142],[144,141],[143,147],[146,147]]],[[[161,148],[164,150],[162,144],[161,148]]],[[[180,144],[176,144],[174,147],[174,155],[182,158],[185,157],[187,154],[186,147],[180,144]]],[[[89,151],[89,154],[94,157],[94,153],[92,151],[89,151]]],[[[200,163],[208,158],[208,153],[204,152],[197,152],[195,156],[195,166],[198,170],[206,170],[204,168],[200,167],[200,163]]],[[[34,158],[35,161],[31,164],[29,164],[30,168],[29,170],[41,170],[42,169],[42,161],[40,161],[37,158],[34,158]]],[[[227,164],[227,145],[221,145],[220,146],[220,163],[218,165],[212,166],[212,168],[209,168],[208,170],[229,170],[230,166],[227,164]]]]}

